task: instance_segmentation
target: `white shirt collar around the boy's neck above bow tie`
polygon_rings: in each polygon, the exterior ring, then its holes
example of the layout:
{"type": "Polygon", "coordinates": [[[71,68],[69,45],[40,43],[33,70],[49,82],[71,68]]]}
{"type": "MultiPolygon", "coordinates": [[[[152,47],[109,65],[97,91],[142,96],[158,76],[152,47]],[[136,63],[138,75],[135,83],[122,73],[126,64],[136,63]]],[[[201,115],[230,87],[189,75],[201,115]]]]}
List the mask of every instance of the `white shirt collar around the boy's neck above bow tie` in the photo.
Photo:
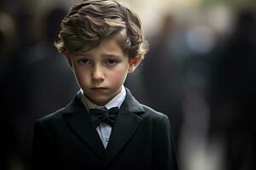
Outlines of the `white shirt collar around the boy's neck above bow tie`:
{"type": "Polygon", "coordinates": [[[119,107],[122,105],[122,103],[125,100],[126,91],[124,85],[122,85],[122,90],[119,94],[117,94],[113,99],[111,99],[106,105],[96,105],[93,102],[90,101],[86,96],[84,96],[84,91],[80,89],[79,92],[80,99],[82,103],[84,104],[85,109],[89,112],[90,109],[101,109],[106,107],[107,109],[110,109],[112,107],[119,107]]]}

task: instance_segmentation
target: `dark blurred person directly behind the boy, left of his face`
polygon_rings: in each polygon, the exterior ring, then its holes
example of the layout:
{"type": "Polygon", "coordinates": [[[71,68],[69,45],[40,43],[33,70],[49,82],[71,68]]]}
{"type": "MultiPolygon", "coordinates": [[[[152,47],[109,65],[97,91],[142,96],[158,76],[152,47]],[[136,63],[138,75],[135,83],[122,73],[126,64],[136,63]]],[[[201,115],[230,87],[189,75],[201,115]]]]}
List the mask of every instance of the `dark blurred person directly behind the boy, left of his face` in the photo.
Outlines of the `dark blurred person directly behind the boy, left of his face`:
{"type": "Polygon", "coordinates": [[[26,63],[20,74],[20,82],[24,84],[25,111],[19,116],[17,130],[20,149],[26,161],[31,155],[34,122],[38,117],[67,105],[78,90],[67,61],[53,46],[65,14],[63,8],[49,8],[43,19],[43,41],[28,48],[23,54],[26,63]]]}

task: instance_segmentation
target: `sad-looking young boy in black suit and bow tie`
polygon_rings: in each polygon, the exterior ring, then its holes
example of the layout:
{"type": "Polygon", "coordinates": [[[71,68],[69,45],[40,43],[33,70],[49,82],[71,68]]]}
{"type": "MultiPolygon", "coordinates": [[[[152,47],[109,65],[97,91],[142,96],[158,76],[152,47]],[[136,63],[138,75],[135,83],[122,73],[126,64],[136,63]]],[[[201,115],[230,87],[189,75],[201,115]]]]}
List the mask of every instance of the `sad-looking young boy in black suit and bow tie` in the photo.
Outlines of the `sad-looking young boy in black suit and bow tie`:
{"type": "Polygon", "coordinates": [[[81,89],[36,122],[33,169],[177,170],[167,116],[123,85],[148,50],[137,14],[115,1],[84,0],[62,20],[55,47],[81,89]]]}

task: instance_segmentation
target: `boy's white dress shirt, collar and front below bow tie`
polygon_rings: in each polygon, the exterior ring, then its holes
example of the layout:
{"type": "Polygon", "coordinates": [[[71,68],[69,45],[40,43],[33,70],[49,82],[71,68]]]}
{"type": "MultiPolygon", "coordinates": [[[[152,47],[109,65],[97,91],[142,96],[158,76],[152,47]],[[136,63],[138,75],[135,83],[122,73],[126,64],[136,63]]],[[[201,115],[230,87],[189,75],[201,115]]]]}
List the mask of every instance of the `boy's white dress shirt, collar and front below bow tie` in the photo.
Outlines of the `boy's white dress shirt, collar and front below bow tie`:
{"type": "MultiPolygon", "coordinates": [[[[107,108],[110,109],[112,107],[119,107],[122,105],[122,103],[125,100],[125,87],[122,86],[122,90],[119,94],[117,94],[113,99],[111,99],[106,105],[95,105],[92,103],[86,96],[84,96],[84,92],[82,89],[80,89],[80,99],[82,103],[84,104],[84,107],[88,113],[90,113],[90,109],[102,109],[107,108]]],[[[96,127],[96,131],[98,132],[100,138],[102,139],[102,144],[104,145],[105,149],[108,145],[108,140],[112,131],[112,127],[108,125],[108,123],[101,122],[99,126],[96,127]]]]}

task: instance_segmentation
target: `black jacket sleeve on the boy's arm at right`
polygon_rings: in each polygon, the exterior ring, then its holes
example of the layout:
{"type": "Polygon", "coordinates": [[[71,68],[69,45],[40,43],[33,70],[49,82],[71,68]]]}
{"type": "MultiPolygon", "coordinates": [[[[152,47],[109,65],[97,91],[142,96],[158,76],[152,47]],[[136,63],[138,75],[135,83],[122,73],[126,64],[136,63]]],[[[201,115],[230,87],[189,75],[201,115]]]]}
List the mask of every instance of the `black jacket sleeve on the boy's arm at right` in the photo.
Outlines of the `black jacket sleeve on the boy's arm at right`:
{"type": "Polygon", "coordinates": [[[153,169],[177,170],[177,155],[169,119],[166,115],[154,127],[153,169]]]}

